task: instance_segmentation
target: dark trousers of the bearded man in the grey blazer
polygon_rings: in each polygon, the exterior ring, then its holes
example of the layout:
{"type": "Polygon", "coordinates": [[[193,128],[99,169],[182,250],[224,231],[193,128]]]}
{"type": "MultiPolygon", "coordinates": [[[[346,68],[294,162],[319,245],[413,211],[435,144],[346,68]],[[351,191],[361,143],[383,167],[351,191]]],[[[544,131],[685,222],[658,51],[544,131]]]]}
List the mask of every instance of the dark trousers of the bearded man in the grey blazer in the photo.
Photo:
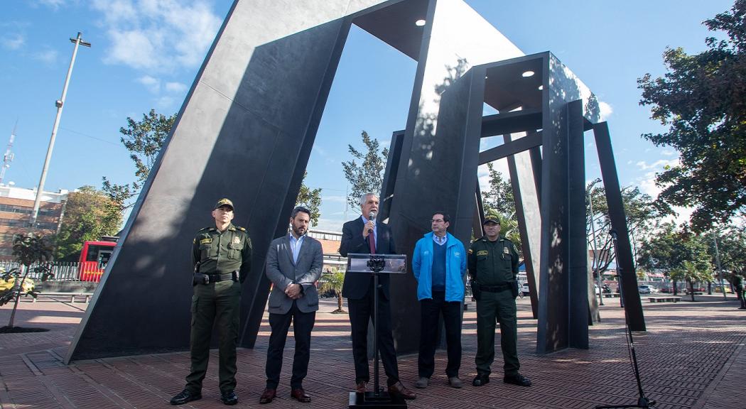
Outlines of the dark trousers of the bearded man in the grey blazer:
{"type": "Polygon", "coordinates": [[[316,311],[301,312],[295,301],[287,314],[269,314],[269,326],[272,327],[272,335],[269,335],[269,348],[267,348],[267,364],[265,372],[267,375],[267,387],[277,389],[280,383],[280,371],[282,370],[282,357],[287,339],[287,331],[292,321],[292,331],[295,337],[295,356],[292,359],[292,377],[290,387],[298,389],[303,387],[303,379],[308,373],[308,360],[311,349],[311,330],[316,322],[316,311]]]}

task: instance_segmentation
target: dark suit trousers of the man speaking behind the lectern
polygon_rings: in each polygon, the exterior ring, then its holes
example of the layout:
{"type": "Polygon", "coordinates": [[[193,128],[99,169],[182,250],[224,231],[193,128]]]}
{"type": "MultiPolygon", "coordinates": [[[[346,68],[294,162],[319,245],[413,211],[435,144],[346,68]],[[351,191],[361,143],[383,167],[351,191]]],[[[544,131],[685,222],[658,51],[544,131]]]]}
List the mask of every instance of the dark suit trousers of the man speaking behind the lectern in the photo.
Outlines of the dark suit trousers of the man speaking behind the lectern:
{"type": "MultiPolygon", "coordinates": [[[[371,281],[371,287],[372,281],[371,281]]],[[[355,383],[370,381],[368,368],[368,321],[373,319],[373,291],[368,291],[361,299],[347,299],[350,309],[350,326],[352,333],[352,357],[355,361],[355,383]]],[[[399,368],[396,364],[394,338],[391,335],[391,305],[378,291],[378,350],[383,370],[386,372],[389,386],[399,381],[399,368]]]]}

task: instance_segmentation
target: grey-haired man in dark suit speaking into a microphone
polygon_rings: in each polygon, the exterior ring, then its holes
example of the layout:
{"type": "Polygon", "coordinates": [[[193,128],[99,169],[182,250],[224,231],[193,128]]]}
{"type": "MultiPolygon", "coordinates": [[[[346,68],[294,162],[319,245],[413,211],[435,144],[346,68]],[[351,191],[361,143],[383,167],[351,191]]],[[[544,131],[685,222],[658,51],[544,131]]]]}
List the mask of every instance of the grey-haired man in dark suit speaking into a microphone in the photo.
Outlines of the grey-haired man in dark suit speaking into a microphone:
{"type": "MultiPolygon", "coordinates": [[[[342,226],[342,244],[339,254],[347,257],[348,253],[395,254],[396,248],[391,229],[384,223],[375,221],[378,214],[378,197],[374,193],[360,197],[362,215],[342,226]]],[[[399,370],[396,363],[394,339],[391,335],[391,306],[389,305],[389,276],[379,276],[381,286],[378,293],[378,349],[383,370],[388,377],[389,395],[404,399],[415,399],[416,395],[407,390],[399,381],[399,370]]],[[[352,332],[352,355],[355,361],[355,384],[357,392],[366,392],[370,381],[368,367],[368,321],[373,318],[373,276],[364,273],[345,274],[342,295],[347,297],[350,309],[350,326],[352,332]]]]}

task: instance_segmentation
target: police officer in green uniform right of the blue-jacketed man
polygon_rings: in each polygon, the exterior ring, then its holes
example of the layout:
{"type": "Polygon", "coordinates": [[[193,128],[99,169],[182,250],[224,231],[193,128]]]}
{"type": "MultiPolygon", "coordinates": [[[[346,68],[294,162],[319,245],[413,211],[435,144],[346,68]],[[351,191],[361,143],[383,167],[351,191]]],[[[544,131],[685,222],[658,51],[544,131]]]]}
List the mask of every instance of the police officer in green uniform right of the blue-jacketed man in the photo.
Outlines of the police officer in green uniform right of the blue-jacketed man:
{"type": "Polygon", "coordinates": [[[471,382],[482,386],[489,382],[490,365],[495,360],[495,323],[500,323],[505,376],[508,384],[531,386],[518,373],[518,323],[515,297],[518,296],[518,251],[507,238],[500,237],[500,220],[489,216],[484,223],[485,235],[468,250],[468,273],[471,293],[477,299],[477,376],[471,382]]]}

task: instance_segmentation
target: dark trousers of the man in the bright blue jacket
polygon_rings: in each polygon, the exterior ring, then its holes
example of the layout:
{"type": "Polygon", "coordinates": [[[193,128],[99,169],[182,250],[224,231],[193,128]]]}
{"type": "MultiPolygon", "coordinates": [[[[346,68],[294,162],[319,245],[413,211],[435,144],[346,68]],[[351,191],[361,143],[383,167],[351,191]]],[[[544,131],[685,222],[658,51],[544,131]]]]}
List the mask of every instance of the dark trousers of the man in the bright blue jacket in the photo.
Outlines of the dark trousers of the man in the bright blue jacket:
{"type": "Polygon", "coordinates": [[[445,301],[445,291],[433,291],[432,299],[420,301],[420,348],[417,370],[420,378],[430,378],[435,370],[435,349],[440,326],[438,318],[443,315],[445,343],[448,346],[448,378],[459,375],[461,367],[461,302],[445,301]]]}

